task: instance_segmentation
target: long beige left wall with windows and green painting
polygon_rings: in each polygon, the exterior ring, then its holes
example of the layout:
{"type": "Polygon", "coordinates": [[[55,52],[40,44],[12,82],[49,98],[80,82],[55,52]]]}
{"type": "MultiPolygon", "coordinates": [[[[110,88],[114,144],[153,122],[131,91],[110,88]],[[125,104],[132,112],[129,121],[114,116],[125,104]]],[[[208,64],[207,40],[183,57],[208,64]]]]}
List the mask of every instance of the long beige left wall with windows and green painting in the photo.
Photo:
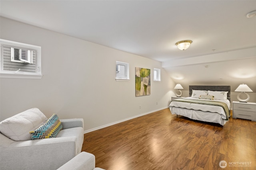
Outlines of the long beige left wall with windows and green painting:
{"type": "Polygon", "coordinates": [[[47,117],[84,118],[85,131],[151,113],[170,104],[174,82],[161,63],[1,18],[0,38],[42,47],[42,79],[0,79],[0,119],[37,107],[47,117]],[[116,61],[130,64],[130,81],[116,82],[116,61]],[[151,95],[135,97],[135,67],[161,68],[151,95]],[[19,89],[19,87],[22,87],[19,89]],[[156,104],[156,102],[158,104],[156,104]],[[141,109],[139,108],[141,106],[141,109]]]}

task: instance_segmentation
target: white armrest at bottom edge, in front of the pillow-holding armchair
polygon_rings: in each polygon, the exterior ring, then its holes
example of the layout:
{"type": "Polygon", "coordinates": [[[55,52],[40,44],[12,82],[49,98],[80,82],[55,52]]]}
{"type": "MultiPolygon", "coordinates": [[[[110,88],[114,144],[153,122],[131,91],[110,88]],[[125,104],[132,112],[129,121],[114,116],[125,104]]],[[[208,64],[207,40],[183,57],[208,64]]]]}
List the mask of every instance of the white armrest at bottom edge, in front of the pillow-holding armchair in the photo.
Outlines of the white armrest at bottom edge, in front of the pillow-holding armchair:
{"type": "Polygon", "coordinates": [[[58,170],[93,170],[95,168],[95,156],[88,152],[81,152],[58,170]]]}

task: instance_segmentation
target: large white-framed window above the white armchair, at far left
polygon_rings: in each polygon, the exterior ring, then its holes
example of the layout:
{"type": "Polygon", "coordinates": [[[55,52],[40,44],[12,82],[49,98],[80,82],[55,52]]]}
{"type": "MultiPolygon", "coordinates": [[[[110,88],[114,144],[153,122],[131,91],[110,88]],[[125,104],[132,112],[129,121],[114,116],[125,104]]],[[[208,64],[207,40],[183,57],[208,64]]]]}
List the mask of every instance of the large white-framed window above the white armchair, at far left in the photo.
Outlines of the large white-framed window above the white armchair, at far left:
{"type": "Polygon", "coordinates": [[[0,39],[1,78],[42,78],[41,47],[0,39]]]}

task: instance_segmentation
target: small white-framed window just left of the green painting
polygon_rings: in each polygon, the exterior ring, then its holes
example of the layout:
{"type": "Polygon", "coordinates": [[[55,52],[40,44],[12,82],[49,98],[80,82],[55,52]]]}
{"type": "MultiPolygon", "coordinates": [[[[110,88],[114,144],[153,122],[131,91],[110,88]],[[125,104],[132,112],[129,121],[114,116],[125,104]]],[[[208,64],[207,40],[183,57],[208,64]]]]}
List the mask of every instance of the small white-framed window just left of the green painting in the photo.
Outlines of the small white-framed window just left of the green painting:
{"type": "Polygon", "coordinates": [[[129,63],[116,61],[116,80],[129,80],[129,63]]]}

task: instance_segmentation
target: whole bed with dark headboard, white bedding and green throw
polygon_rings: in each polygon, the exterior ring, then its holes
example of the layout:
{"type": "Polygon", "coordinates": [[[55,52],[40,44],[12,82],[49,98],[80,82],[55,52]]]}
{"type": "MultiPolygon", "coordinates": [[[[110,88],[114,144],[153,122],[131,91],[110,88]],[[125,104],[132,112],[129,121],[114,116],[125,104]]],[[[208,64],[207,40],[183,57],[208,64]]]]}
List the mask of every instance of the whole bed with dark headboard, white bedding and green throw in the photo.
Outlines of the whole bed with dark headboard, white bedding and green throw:
{"type": "Polygon", "coordinates": [[[172,100],[170,111],[223,126],[230,117],[230,86],[189,86],[189,97],[172,100]]]}

